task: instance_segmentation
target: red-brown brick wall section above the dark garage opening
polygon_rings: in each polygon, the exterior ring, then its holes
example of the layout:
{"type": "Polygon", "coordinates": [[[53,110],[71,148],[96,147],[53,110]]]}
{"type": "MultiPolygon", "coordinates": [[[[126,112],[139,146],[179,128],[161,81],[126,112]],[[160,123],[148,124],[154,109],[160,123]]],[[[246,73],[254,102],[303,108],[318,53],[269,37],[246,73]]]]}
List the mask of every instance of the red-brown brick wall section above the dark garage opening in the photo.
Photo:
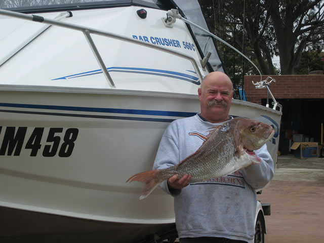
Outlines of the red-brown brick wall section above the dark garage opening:
{"type": "MultiPolygon", "coordinates": [[[[264,80],[267,76],[262,77],[264,80]]],[[[270,84],[275,99],[324,99],[324,75],[271,75],[271,77],[275,79],[275,83],[270,84]]],[[[259,82],[260,76],[244,77],[247,101],[261,104],[261,99],[267,98],[267,90],[256,89],[252,81],[259,82]]]]}

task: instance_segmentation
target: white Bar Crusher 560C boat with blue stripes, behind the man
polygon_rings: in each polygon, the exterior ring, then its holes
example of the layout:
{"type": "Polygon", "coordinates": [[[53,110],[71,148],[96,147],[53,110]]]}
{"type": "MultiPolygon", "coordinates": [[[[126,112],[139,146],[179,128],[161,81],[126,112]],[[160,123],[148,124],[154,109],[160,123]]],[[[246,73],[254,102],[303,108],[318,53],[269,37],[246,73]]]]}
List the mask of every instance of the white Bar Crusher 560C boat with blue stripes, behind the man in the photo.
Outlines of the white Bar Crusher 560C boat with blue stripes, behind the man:
{"type": "MultiPolygon", "coordinates": [[[[50,2],[0,9],[0,237],[176,237],[173,198],[139,200],[142,184],[126,180],[151,170],[171,121],[199,112],[202,78],[225,71],[188,23],[207,29],[198,3],[50,2]]],[[[230,114],[273,126],[276,161],[274,106],[233,100],[230,114]]]]}

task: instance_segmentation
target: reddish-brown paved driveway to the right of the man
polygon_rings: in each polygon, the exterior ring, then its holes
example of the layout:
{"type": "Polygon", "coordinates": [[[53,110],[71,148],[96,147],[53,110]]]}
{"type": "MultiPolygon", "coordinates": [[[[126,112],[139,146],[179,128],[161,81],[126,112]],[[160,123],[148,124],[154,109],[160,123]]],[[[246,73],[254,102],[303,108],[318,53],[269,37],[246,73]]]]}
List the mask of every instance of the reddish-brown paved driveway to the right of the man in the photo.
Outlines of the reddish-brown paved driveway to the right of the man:
{"type": "Polygon", "coordinates": [[[275,177],[258,199],[271,204],[266,243],[324,243],[324,158],[279,156],[275,177]]]}

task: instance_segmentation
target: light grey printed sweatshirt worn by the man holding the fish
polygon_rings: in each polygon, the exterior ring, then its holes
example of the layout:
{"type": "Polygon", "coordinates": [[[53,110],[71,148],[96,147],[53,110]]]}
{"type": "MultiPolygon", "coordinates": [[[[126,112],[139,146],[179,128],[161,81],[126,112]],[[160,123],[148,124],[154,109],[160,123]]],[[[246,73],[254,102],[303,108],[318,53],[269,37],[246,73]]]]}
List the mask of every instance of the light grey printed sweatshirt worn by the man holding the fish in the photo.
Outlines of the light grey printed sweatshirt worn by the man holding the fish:
{"type": "MultiPolygon", "coordinates": [[[[220,124],[198,115],[173,121],[161,138],[153,169],[179,164],[203,144],[209,128],[220,124]]],[[[273,177],[274,165],[266,145],[255,151],[262,158],[252,165],[221,178],[192,183],[170,191],[167,181],[160,187],[174,196],[176,226],[183,237],[225,237],[253,243],[257,196],[273,177]]]]}

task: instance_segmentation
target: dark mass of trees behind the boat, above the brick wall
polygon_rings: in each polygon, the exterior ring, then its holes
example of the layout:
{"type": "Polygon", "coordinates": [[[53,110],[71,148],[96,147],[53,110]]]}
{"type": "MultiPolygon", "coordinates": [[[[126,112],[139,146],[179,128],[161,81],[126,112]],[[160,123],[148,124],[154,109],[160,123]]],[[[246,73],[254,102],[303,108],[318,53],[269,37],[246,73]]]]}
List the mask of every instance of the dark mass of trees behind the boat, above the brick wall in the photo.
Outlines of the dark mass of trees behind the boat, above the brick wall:
{"type": "Polygon", "coordinates": [[[200,4],[210,29],[256,59],[263,74],[276,74],[274,55],[280,58],[281,74],[295,74],[303,51],[324,48],[324,0],[200,0],[200,4]]]}

